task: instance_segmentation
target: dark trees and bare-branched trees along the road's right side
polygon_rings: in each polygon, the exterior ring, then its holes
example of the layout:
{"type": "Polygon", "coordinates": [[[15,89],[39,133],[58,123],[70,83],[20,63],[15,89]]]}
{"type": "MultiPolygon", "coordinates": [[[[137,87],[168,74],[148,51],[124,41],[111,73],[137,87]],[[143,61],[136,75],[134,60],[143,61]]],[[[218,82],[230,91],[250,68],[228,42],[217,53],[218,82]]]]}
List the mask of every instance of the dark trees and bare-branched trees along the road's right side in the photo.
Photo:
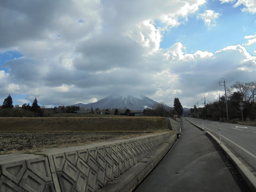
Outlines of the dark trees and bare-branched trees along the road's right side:
{"type": "MultiPolygon", "coordinates": [[[[256,82],[236,82],[227,88],[228,117],[230,120],[242,120],[240,102],[242,102],[243,119],[256,119],[256,82]]],[[[196,118],[206,118],[210,120],[226,119],[226,99],[225,95],[219,100],[214,100],[206,104],[206,108],[190,108],[191,116],[196,118]]]]}

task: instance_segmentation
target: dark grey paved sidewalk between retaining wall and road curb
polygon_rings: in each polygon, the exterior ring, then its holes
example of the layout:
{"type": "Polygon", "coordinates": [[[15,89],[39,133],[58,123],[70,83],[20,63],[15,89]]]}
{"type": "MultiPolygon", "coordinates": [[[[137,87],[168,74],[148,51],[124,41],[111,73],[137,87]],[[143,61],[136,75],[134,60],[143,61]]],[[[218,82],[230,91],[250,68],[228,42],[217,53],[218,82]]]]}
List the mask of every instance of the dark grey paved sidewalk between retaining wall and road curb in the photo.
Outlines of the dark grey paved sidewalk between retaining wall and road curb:
{"type": "Polygon", "coordinates": [[[135,192],[248,192],[245,183],[198,128],[183,119],[182,135],[135,192]]]}

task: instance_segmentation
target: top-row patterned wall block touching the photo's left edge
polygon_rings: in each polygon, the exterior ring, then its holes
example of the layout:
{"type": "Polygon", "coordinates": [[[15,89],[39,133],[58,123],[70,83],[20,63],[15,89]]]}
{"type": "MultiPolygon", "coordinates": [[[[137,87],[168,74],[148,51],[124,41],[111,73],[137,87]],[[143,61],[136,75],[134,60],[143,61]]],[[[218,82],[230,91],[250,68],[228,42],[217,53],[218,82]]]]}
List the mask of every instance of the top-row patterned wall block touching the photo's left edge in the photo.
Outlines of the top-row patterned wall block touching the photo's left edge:
{"type": "Polygon", "coordinates": [[[2,174],[8,177],[10,180],[14,181],[16,184],[22,178],[26,170],[26,162],[25,161],[18,161],[12,163],[6,163],[1,165],[2,174]]]}

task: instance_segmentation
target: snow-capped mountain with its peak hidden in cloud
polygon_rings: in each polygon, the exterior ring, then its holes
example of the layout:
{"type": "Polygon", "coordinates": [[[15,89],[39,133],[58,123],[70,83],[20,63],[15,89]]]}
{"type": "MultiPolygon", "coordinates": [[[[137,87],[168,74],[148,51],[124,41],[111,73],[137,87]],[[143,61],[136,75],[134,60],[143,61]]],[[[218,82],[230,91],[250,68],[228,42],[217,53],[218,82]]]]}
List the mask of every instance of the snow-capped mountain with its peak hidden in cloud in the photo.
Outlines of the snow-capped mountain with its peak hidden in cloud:
{"type": "Polygon", "coordinates": [[[90,109],[92,108],[118,108],[123,109],[127,108],[130,110],[144,110],[145,108],[152,108],[154,104],[158,104],[158,102],[144,96],[140,95],[140,98],[137,98],[132,95],[127,96],[119,96],[119,95],[110,95],[106,98],[98,100],[95,103],[88,104],[74,104],[74,106],[80,106],[80,108],[90,109]]]}

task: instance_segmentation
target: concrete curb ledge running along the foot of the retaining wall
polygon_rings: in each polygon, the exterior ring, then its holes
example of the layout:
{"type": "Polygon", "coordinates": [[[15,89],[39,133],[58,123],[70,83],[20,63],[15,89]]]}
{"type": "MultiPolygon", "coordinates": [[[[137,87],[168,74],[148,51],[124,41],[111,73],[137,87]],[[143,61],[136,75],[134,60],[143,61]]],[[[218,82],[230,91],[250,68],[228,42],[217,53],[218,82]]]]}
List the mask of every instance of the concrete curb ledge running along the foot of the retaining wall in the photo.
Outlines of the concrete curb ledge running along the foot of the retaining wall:
{"type": "Polygon", "coordinates": [[[131,192],[134,190],[162,160],[176,139],[177,134],[171,136],[170,139],[163,142],[156,150],[148,154],[146,158],[143,158],[139,163],[124,172],[114,182],[110,182],[110,184],[102,188],[100,192],[131,192]]]}

